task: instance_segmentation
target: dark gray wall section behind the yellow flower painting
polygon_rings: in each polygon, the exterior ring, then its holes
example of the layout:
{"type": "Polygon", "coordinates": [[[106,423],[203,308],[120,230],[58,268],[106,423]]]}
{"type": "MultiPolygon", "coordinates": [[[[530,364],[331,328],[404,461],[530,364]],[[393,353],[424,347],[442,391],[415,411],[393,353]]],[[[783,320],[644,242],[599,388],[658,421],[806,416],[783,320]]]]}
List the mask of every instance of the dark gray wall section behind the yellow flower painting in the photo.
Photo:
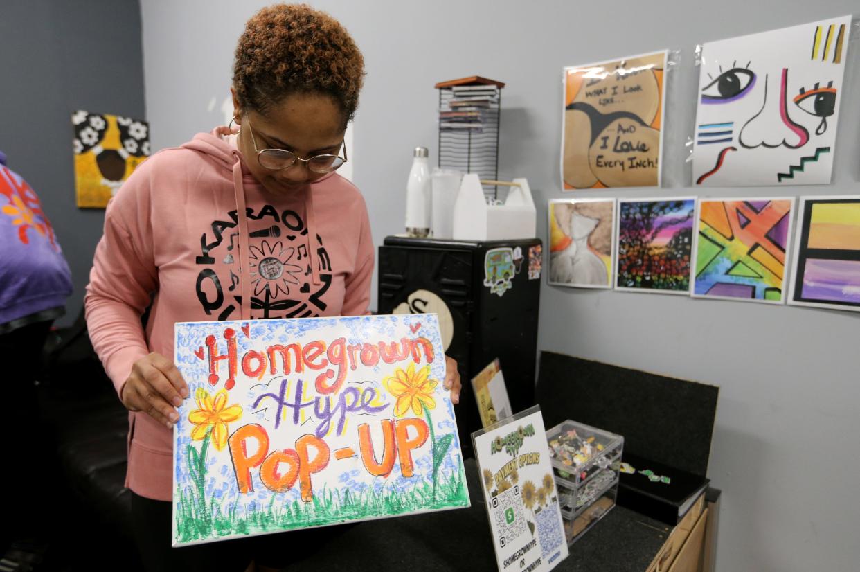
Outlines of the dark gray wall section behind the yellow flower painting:
{"type": "Polygon", "coordinates": [[[71,114],[145,117],[138,0],[7,0],[0,7],[0,150],[42,201],[75,290],[58,321],[83,305],[104,210],[78,209],[71,114]]]}

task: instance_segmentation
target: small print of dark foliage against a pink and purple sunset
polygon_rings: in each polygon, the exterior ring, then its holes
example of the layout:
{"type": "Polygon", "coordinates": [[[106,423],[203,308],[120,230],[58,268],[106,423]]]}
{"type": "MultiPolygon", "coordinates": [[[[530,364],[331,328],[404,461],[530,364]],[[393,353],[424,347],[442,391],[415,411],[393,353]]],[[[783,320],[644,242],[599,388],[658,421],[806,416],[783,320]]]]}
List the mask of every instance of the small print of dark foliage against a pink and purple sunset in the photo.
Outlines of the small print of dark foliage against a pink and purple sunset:
{"type": "Polygon", "coordinates": [[[689,294],[696,199],[618,200],[617,290],[689,294]]]}

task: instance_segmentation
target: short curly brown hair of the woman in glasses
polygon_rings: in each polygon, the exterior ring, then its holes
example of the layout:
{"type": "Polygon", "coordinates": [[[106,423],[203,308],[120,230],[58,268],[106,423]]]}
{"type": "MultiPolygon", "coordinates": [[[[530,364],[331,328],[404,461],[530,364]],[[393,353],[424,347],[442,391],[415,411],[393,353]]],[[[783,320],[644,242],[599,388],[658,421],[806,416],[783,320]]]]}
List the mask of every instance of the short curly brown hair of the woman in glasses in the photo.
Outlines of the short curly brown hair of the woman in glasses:
{"type": "Polygon", "coordinates": [[[359,107],[365,61],[347,29],[307,4],[273,4],[257,12],[239,38],[233,87],[239,105],[265,114],[296,93],[330,95],[344,125],[359,107]]]}

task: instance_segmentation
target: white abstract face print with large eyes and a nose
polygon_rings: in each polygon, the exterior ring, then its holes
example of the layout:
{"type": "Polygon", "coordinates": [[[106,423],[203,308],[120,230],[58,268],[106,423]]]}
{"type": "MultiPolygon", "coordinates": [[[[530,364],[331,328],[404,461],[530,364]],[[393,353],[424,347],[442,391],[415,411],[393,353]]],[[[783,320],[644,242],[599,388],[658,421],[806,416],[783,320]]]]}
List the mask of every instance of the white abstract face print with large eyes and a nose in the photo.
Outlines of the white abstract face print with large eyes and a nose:
{"type": "Polygon", "coordinates": [[[851,16],[706,43],[693,181],[831,181],[851,16]]]}

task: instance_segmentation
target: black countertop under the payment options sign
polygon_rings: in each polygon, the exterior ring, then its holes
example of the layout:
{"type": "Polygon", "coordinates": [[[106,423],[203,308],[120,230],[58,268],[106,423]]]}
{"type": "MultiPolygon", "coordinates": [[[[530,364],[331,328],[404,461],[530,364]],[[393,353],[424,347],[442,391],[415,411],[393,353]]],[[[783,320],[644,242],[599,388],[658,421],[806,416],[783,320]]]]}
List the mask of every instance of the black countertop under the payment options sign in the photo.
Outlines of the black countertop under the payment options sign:
{"type": "MultiPolygon", "coordinates": [[[[332,527],[331,538],[307,557],[298,557],[296,569],[496,569],[475,460],[467,460],[465,467],[471,507],[332,527]]],[[[555,569],[644,572],[671,530],[657,520],[614,507],[570,547],[570,556],[555,569]]],[[[286,550],[301,552],[296,548],[286,550]]]]}

